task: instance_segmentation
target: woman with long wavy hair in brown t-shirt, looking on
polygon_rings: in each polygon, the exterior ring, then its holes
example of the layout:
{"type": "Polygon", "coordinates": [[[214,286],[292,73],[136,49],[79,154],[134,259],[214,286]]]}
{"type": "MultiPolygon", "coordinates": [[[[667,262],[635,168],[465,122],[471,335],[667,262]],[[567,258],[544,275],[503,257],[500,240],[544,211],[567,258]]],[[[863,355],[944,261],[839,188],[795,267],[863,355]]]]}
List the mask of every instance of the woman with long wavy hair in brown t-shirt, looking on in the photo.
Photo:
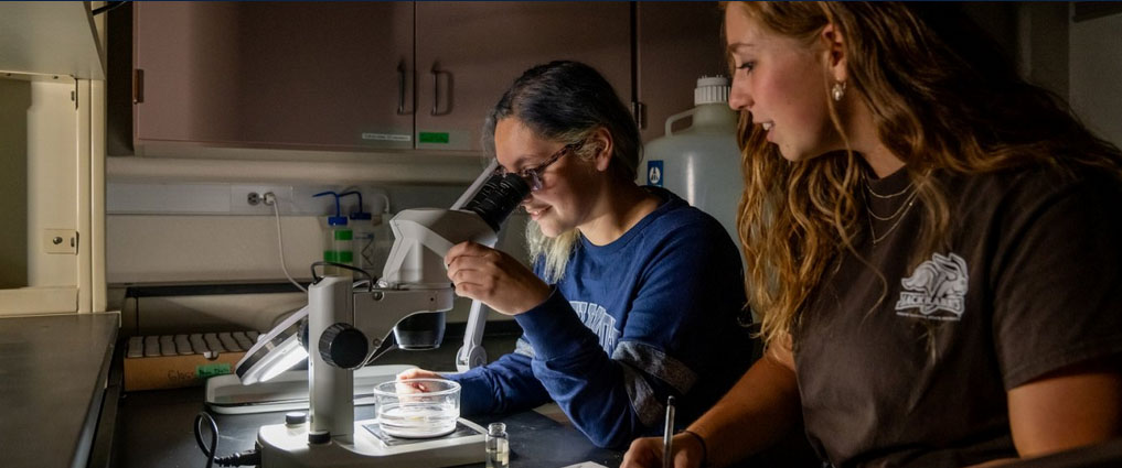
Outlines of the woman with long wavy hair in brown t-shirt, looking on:
{"type": "MultiPolygon", "coordinates": [[[[945,3],[725,6],[738,230],[767,345],[673,439],[836,467],[1001,464],[1122,436],[1122,155],[945,3]]],[[[625,467],[660,466],[662,443],[625,467]]]]}

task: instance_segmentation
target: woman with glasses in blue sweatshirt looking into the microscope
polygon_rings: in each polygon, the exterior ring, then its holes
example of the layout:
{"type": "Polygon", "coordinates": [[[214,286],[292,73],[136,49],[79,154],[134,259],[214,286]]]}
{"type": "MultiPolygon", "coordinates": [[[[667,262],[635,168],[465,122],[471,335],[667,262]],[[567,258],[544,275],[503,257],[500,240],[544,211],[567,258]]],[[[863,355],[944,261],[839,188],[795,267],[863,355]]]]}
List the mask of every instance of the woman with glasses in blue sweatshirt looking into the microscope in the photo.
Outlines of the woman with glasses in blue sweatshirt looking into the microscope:
{"type": "MultiPolygon", "coordinates": [[[[463,243],[445,256],[457,294],[514,316],[513,354],[447,375],[465,414],[554,401],[597,446],[662,432],[666,397],[687,423],[753,361],[741,258],[720,224],[674,194],[635,185],[638,129],[591,67],[525,72],[486,121],[522,206],[533,271],[463,243]]],[[[411,371],[399,378],[434,376],[411,371]]]]}

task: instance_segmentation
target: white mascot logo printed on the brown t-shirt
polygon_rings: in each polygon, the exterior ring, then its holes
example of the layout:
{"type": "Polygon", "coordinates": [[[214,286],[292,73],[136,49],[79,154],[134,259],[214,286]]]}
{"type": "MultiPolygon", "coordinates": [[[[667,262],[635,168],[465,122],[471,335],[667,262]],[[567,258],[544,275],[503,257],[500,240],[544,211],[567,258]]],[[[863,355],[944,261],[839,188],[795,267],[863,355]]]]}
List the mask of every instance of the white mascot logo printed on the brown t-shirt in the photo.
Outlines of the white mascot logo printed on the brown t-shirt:
{"type": "Polygon", "coordinates": [[[900,280],[904,290],[896,301],[896,315],[930,320],[959,320],[966,311],[966,261],[951,253],[938,253],[900,280]],[[916,311],[916,309],[919,309],[916,311]],[[937,313],[939,311],[950,313],[937,313]]]}

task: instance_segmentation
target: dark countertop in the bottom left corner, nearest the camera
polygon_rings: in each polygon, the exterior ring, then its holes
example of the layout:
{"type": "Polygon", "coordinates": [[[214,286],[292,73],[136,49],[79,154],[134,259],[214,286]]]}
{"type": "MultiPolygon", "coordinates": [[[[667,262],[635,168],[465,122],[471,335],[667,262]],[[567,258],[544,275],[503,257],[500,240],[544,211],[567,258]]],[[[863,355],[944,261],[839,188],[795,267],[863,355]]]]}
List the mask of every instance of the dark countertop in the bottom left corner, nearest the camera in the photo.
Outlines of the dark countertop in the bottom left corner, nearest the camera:
{"type": "Polygon", "coordinates": [[[85,467],[118,313],[0,318],[4,467],[85,467]]]}

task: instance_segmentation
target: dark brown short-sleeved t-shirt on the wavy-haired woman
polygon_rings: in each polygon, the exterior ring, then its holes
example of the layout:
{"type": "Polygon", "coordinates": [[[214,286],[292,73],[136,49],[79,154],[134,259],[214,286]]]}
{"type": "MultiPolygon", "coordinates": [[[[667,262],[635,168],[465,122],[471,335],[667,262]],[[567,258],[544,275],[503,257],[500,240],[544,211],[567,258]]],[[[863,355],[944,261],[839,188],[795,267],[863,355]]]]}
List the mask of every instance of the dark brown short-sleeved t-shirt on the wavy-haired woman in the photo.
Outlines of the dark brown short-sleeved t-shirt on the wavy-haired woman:
{"type": "Polygon", "coordinates": [[[837,467],[1015,456],[1008,390],[1119,359],[1122,187],[1065,174],[939,176],[951,225],[947,246],[923,259],[912,259],[923,207],[905,171],[870,181],[889,197],[865,195],[886,218],[861,219],[867,264],[839,254],[792,329],[819,456],[837,467]]]}

